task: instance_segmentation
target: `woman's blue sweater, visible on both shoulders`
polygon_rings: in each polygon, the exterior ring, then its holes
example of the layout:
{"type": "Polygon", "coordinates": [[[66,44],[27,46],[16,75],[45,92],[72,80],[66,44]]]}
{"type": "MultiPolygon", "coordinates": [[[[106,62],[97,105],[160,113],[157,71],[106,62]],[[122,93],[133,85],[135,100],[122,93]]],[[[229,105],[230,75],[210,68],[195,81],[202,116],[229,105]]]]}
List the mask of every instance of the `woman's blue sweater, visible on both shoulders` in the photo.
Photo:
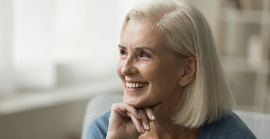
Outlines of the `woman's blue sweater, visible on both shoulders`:
{"type": "MultiPolygon", "coordinates": [[[[86,132],[86,139],[105,139],[111,111],[93,120],[86,132]]],[[[256,139],[246,124],[232,113],[227,118],[199,127],[197,139],[256,139]]]]}

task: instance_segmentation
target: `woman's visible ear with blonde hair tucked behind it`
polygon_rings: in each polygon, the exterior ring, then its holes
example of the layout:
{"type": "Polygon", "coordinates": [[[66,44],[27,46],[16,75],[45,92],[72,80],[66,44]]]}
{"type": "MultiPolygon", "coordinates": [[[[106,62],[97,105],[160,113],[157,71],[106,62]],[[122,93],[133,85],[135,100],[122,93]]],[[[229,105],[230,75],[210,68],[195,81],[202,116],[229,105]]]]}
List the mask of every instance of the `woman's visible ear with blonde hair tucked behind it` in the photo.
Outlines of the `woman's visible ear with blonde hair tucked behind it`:
{"type": "Polygon", "coordinates": [[[178,84],[185,86],[190,83],[196,76],[197,71],[197,58],[191,56],[187,59],[187,62],[183,65],[178,84]]]}

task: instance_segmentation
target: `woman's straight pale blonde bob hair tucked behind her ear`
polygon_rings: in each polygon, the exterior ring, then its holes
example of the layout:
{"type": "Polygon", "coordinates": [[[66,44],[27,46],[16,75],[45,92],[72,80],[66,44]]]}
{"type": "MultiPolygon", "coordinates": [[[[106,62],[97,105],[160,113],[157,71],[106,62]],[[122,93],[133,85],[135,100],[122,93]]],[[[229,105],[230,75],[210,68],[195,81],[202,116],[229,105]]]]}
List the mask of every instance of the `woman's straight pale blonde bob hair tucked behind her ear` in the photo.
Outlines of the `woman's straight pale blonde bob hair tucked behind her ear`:
{"type": "Polygon", "coordinates": [[[126,15],[127,23],[145,20],[164,36],[174,54],[172,62],[196,56],[196,77],[183,87],[172,120],[188,128],[198,128],[227,116],[235,99],[220,64],[212,31],[203,14],[188,1],[151,0],[136,4],[126,15]]]}

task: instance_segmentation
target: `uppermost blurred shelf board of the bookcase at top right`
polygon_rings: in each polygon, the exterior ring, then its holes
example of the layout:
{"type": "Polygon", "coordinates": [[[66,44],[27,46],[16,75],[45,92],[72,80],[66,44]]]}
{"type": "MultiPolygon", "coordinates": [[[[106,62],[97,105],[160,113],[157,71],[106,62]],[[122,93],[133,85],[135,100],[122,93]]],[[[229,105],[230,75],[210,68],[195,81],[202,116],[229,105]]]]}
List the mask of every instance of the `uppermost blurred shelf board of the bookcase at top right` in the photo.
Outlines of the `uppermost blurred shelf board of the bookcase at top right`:
{"type": "Polygon", "coordinates": [[[228,23],[270,24],[270,11],[223,8],[222,12],[224,17],[220,16],[220,21],[228,23]]]}

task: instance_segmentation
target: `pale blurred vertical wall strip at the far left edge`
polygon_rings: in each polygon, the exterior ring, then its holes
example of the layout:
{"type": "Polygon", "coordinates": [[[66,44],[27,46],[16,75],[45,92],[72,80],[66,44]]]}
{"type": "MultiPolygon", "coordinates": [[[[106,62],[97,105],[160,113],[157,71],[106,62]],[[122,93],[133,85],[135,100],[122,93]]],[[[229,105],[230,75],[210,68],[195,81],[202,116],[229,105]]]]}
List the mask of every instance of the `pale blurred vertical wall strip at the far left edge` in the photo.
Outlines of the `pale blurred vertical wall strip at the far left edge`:
{"type": "Polygon", "coordinates": [[[12,1],[0,0],[0,97],[12,92],[12,1]]]}

